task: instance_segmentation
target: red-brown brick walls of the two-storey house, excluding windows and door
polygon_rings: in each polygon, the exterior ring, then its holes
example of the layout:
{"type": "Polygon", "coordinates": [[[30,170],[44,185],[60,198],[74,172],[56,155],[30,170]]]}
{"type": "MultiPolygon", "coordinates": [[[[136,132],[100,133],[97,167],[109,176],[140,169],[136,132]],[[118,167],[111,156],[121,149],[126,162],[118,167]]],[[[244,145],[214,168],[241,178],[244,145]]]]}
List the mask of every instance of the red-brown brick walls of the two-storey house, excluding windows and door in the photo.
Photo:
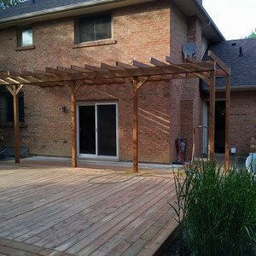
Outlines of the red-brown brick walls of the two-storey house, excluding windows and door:
{"type": "MultiPolygon", "coordinates": [[[[113,64],[134,58],[148,62],[150,56],[163,60],[171,55],[182,60],[182,46],[189,39],[201,48],[201,23],[187,20],[167,0],[113,9],[113,38],[117,44],[73,49],[72,18],[33,24],[36,49],[15,51],[16,29],[0,31],[0,70],[43,69],[70,65],[113,64]]],[[[199,50],[201,52],[201,49],[199,50]]],[[[127,84],[84,85],[78,102],[118,102],[119,158],[131,160],[132,89],[127,84]]],[[[25,86],[26,128],[21,142],[32,154],[70,156],[70,109],[68,86],[40,88],[25,86]]],[[[175,160],[175,138],[181,133],[188,139],[191,153],[194,125],[201,123],[201,96],[198,79],[190,81],[146,83],[139,90],[139,160],[169,163],[175,160]]],[[[4,129],[5,144],[12,145],[12,129],[4,129]]],[[[199,147],[199,146],[198,146],[199,147]]]]}

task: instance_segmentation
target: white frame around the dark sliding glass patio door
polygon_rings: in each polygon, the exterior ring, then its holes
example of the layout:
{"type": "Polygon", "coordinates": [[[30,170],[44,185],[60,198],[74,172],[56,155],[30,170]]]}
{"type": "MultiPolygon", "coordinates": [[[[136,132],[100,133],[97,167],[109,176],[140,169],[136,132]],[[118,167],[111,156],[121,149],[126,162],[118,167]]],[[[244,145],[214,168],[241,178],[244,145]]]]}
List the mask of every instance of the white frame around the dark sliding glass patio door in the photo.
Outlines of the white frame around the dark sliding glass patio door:
{"type": "Polygon", "coordinates": [[[119,108],[118,102],[77,102],[77,156],[79,159],[95,159],[95,160],[119,160],[119,108]],[[97,106],[99,105],[115,105],[116,114],[116,156],[98,155],[98,118],[97,106]],[[80,154],[80,132],[79,132],[79,107],[80,106],[94,106],[95,107],[95,121],[96,121],[96,154],[80,154]]]}

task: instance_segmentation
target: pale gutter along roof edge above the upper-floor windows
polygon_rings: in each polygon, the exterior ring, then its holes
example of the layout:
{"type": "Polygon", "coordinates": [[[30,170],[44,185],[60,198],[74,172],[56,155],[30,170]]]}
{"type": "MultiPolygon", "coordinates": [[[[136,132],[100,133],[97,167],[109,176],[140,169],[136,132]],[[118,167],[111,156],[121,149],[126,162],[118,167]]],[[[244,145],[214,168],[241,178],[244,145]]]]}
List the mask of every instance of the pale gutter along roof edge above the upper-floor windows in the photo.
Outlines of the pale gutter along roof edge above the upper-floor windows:
{"type": "Polygon", "coordinates": [[[103,5],[103,4],[107,4],[107,3],[108,4],[109,3],[118,3],[118,2],[123,2],[123,0],[91,0],[90,2],[86,2],[86,3],[70,4],[67,6],[56,7],[53,9],[45,9],[42,11],[32,12],[29,14],[16,15],[16,16],[9,17],[9,18],[3,18],[3,19],[0,19],[0,23],[3,24],[3,23],[15,21],[15,20],[25,20],[25,19],[29,19],[32,17],[52,15],[52,14],[62,13],[65,11],[70,11],[70,10],[83,9],[83,8],[88,8],[88,7],[94,7],[96,5],[103,5]]]}

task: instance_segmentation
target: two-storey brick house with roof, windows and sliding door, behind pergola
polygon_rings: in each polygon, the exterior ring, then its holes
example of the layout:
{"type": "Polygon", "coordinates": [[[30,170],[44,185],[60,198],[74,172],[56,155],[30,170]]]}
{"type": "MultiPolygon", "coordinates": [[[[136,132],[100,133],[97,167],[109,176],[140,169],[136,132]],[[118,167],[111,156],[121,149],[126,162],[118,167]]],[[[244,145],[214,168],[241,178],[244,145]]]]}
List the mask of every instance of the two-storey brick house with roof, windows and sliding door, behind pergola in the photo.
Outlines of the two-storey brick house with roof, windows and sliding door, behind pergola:
{"type": "MultiPolygon", "coordinates": [[[[196,44],[196,58],[201,60],[210,43],[221,41],[224,37],[196,0],[35,0],[0,11],[0,70],[113,64],[117,60],[148,63],[150,57],[164,60],[166,55],[180,63],[187,42],[196,44]]],[[[139,160],[172,162],[179,135],[187,139],[189,158],[193,127],[203,120],[200,81],[178,79],[155,85],[148,82],[138,94],[139,160]]],[[[8,146],[13,144],[13,109],[9,92],[0,90],[2,145],[8,146]]],[[[77,120],[79,157],[132,159],[131,86],[81,87],[77,120]]],[[[31,154],[70,156],[67,86],[26,86],[20,94],[20,132],[21,145],[31,154]]],[[[196,136],[199,154],[202,134],[196,136]]]]}

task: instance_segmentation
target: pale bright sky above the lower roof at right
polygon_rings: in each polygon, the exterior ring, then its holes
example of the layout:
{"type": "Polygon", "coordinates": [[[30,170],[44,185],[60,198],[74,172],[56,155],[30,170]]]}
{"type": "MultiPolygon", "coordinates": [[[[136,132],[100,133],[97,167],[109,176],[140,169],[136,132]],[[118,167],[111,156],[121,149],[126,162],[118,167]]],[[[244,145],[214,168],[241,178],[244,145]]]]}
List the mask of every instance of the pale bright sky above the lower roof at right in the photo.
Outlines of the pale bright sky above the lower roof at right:
{"type": "Polygon", "coordinates": [[[247,37],[256,28],[256,0],[203,0],[227,40],[247,37]]]}

